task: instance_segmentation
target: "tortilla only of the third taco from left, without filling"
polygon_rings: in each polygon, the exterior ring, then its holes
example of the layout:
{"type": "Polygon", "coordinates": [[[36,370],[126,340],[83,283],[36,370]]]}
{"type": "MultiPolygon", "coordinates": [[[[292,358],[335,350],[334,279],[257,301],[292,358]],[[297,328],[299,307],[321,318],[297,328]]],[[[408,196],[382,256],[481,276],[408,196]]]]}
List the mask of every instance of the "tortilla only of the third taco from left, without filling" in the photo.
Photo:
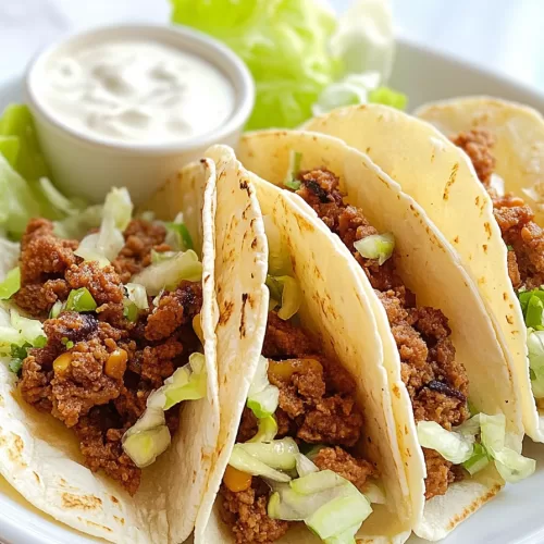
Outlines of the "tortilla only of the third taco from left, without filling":
{"type": "MultiPolygon", "coordinates": [[[[239,159],[248,170],[282,186],[289,172],[292,151],[301,153],[301,170],[324,166],[339,176],[348,201],[361,208],[380,232],[394,234],[398,269],[405,284],[417,295],[419,305],[440,308],[449,319],[457,360],[463,362],[470,380],[471,403],[485,413],[503,411],[507,420],[507,442],[520,452],[521,412],[508,366],[478,289],[444,236],[396,182],[366,154],[337,138],[305,132],[249,134],[240,143],[239,159]]],[[[283,193],[300,210],[317,218],[298,195],[283,193]]],[[[392,398],[397,399],[397,436],[410,482],[412,509],[417,512],[413,529],[428,540],[442,539],[492,498],[504,481],[491,465],[477,477],[452,484],[446,495],[424,502],[424,459],[408,393],[400,379],[398,350],[383,306],[360,265],[351,255],[349,258],[348,265],[358,276],[361,293],[364,286],[364,295],[371,300],[384,346],[388,387],[392,398]]]]}

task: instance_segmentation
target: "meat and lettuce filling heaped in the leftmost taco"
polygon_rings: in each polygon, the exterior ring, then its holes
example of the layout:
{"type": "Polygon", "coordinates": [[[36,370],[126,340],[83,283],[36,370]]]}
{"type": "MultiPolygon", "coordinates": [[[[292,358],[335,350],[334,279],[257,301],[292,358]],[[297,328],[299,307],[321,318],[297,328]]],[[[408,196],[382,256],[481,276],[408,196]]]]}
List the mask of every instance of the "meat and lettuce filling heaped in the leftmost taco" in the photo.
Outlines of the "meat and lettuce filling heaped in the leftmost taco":
{"type": "Polygon", "coordinates": [[[114,189],[100,227],[81,242],[48,220],[28,223],[2,284],[10,326],[0,349],[23,399],[73,430],[90,470],[135,494],[141,468],[176,432],[175,405],[206,394],[206,373],[193,330],[198,258],[170,225],[131,214],[128,194],[114,189]]]}

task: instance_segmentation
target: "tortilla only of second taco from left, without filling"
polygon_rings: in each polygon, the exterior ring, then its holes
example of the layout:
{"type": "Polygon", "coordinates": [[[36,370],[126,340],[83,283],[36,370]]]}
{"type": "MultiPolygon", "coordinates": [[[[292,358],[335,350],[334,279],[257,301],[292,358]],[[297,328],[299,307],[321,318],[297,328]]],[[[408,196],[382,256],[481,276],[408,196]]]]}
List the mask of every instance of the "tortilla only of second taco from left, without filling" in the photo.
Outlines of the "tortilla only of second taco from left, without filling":
{"type": "MultiPolygon", "coordinates": [[[[308,210],[283,191],[244,170],[233,151],[215,146],[207,156],[218,168],[217,293],[220,310],[218,370],[221,425],[218,460],[195,528],[195,543],[234,542],[221,520],[219,487],[228,462],[255,375],[267,327],[269,293],[264,285],[268,246],[262,214],[268,214],[290,251],[304,302],[298,316],[321,336],[357,382],[359,405],[371,440],[368,458],[383,477],[387,505],[373,505],[363,523],[364,542],[401,543],[409,535],[413,512],[410,486],[403,469],[387,388],[386,369],[375,319],[359,288],[351,256],[308,210]],[[354,304],[357,299],[360,304],[354,304]]],[[[320,542],[304,526],[289,530],[282,543],[320,542]]]]}

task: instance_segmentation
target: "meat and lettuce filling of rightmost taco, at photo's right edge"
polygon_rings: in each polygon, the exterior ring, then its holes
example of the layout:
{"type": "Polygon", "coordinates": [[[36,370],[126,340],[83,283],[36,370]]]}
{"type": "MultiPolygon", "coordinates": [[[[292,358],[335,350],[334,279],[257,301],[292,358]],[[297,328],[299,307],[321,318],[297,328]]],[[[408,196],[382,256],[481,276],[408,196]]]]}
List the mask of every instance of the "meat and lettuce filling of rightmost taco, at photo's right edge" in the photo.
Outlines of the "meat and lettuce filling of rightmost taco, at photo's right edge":
{"type": "Polygon", "coordinates": [[[522,198],[505,194],[494,173],[495,138],[477,128],[453,136],[452,141],[470,158],[477,175],[493,201],[494,215],[508,248],[508,274],[518,293],[528,327],[530,374],[536,404],[544,409],[544,231],[533,220],[522,198]]]}

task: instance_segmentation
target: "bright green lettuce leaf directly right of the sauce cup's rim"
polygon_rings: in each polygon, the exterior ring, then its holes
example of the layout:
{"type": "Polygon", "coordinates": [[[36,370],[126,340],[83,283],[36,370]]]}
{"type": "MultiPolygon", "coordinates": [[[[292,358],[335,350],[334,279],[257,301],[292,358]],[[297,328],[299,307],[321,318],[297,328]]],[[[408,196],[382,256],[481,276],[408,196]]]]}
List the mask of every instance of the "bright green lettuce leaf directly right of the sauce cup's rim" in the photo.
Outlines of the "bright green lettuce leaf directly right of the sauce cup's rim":
{"type": "Polygon", "coordinates": [[[329,51],[334,13],[313,0],[171,0],[172,21],[230,46],[256,83],[248,129],[295,127],[338,75],[329,51]]]}

